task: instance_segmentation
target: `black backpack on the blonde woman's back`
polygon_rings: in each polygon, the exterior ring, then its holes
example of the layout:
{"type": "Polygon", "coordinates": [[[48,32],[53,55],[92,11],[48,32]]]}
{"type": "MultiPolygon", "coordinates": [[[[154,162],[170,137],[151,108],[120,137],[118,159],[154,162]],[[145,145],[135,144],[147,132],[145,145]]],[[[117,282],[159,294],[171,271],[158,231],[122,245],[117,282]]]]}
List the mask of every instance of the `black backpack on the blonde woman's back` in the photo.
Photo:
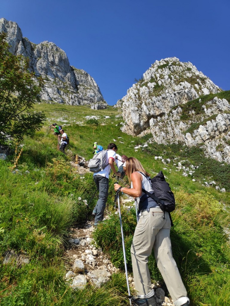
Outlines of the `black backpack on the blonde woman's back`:
{"type": "MultiPolygon", "coordinates": [[[[148,178],[144,173],[142,174],[148,178]]],[[[154,199],[159,204],[159,207],[163,210],[163,212],[167,211],[169,213],[171,224],[173,226],[170,213],[175,209],[175,198],[171,188],[169,187],[169,184],[165,180],[163,172],[160,171],[155,177],[152,179],[148,178],[148,180],[152,184],[154,195],[144,190],[143,188],[142,191],[154,199]]]]}

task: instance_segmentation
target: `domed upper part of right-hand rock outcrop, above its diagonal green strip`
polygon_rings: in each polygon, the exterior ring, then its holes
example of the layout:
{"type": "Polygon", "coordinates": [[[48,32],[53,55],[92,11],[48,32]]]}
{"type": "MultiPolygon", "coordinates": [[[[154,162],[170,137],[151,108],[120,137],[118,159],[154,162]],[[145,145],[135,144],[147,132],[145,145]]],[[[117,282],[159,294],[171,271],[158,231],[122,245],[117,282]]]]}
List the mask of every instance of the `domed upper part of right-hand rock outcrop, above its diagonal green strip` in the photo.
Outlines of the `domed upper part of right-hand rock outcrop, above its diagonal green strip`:
{"type": "Polygon", "coordinates": [[[201,95],[220,92],[207,76],[190,62],[178,58],[156,61],[122,98],[125,125],[122,131],[138,135],[150,126],[150,119],[168,114],[174,106],[201,95]]]}

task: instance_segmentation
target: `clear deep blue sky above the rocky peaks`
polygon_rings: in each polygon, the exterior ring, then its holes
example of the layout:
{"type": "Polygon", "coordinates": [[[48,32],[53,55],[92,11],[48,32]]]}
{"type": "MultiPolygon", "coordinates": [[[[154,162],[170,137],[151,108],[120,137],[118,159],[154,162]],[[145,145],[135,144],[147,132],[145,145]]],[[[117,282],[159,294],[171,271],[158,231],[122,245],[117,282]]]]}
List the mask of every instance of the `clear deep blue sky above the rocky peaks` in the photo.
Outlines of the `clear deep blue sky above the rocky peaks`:
{"type": "Polygon", "coordinates": [[[63,49],[114,105],[156,60],[192,62],[230,89],[229,0],[7,0],[0,18],[33,43],[63,49]]]}

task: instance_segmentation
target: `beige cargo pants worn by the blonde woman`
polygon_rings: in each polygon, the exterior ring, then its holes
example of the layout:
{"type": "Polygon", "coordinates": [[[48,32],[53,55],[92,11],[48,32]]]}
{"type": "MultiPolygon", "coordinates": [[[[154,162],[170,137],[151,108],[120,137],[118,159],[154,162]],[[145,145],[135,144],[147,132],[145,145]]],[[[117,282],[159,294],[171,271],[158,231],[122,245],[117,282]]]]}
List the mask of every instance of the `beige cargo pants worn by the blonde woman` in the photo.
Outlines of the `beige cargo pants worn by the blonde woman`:
{"type": "Polygon", "coordinates": [[[142,211],[131,246],[134,283],[138,295],[142,298],[146,295],[149,297],[148,293],[152,291],[148,270],[148,257],[152,248],[157,267],[174,302],[180,297],[187,296],[172,256],[170,228],[171,221],[167,212],[163,219],[163,211],[160,208],[150,208],[149,212],[142,211]]]}

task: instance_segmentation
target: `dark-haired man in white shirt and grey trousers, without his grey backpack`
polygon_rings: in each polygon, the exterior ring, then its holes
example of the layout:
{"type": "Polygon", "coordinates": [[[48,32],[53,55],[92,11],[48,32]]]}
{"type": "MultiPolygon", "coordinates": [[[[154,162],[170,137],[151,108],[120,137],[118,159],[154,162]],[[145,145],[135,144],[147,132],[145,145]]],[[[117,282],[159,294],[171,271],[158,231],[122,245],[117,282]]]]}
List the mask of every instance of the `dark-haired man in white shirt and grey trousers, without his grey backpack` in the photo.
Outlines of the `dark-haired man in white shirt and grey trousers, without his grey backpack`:
{"type": "Polygon", "coordinates": [[[117,152],[117,146],[116,144],[109,144],[108,145],[108,151],[107,151],[107,163],[108,166],[106,166],[103,170],[94,173],[94,182],[98,188],[99,191],[99,198],[96,206],[94,207],[92,216],[95,217],[94,219],[94,226],[98,225],[98,222],[103,220],[103,214],[105,211],[105,205],[107,202],[108,194],[109,194],[109,173],[112,169],[113,172],[119,176],[120,174],[117,173],[114,162],[116,159],[116,152],[117,152]]]}

